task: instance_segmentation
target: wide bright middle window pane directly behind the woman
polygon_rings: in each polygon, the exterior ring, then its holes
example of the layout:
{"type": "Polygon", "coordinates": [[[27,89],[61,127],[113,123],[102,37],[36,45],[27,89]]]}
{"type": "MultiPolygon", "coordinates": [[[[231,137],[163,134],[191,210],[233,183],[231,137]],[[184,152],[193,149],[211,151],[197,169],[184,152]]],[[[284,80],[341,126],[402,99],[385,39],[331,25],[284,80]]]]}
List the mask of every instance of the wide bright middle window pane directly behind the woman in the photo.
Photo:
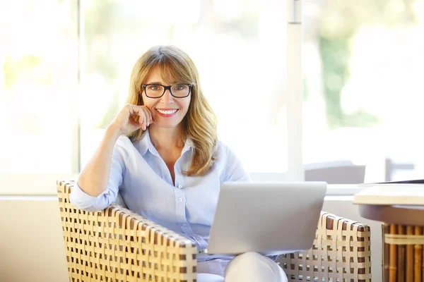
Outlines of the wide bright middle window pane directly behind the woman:
{"type": "Polygon", "coordinates": [[[248,171],[285,172],[283,1],[93,0],[84,11],[83,165],[122,106],[136,59],[153,45],[175,44],[199,68],[221,140],[248,171]]]}

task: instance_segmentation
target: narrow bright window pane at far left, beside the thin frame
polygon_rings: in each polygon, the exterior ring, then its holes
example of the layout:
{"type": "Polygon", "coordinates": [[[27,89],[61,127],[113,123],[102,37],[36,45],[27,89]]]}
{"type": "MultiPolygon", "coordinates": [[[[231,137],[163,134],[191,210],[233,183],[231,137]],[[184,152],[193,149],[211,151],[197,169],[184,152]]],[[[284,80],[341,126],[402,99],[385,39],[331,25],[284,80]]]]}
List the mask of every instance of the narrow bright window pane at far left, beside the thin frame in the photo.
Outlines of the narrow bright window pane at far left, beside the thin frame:
{"type": "Polygon", "coordinates": [[[0,4],[0,173],[71,173],[76,7],[0,4]]]}

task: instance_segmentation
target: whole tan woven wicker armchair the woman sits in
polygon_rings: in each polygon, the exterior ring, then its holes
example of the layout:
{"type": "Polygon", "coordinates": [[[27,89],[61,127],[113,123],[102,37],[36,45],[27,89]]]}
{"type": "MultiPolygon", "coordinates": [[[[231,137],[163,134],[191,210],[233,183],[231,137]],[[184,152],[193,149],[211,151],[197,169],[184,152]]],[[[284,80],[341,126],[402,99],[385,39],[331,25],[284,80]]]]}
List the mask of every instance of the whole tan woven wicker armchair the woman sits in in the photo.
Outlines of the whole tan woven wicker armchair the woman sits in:
{"type": "MultiPolygon", "coordinates": [[[[72,186],[57,181],[69,281],[196,281],[192,241],[118,204],[102,212],[76,209],[72,186]]],[[[289,281],[370,281],[369,239],[368,226],[322,214],[312,250],[279,262],[289,281]]]]}

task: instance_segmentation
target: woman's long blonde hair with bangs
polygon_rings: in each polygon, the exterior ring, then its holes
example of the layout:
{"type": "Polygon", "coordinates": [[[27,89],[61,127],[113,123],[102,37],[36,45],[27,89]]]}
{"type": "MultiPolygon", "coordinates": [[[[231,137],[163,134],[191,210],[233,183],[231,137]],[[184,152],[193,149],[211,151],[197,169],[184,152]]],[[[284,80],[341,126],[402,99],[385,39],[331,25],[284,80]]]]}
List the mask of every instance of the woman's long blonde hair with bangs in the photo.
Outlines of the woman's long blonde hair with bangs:
{"type": "MultiPolygon", "coordinates": [[[[194,62],[181,49],[175,46],[156,46],[148,49],[136,61],[131,72],[129,104],[143,105],[141,91],[153,68],[158,68],[168,85],[172,82],[192,84],[191,100],[186,116],[182,120],[182,137],[193,142],[194,155],[187,176],[203,176],[216,160],[213,153],[218,144],[217,121],[211,106],[204,97],[199,85],[199,73],[194,62]]],[[[132,142],[139,141],[143,130],[127,135],[132,142]]]]}

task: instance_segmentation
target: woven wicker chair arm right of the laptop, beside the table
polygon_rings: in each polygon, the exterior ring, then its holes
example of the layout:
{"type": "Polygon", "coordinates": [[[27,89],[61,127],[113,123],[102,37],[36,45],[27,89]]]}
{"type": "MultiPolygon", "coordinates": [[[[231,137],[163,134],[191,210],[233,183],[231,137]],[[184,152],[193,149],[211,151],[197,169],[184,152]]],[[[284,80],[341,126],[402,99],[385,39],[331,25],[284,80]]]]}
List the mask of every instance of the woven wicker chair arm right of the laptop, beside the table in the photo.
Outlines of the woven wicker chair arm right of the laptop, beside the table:
{"type": "Polygon", "coordinates": [[[371,281],[370,227],[322,212],[314,245],[279,261],[289,281],[371,281]]]}

